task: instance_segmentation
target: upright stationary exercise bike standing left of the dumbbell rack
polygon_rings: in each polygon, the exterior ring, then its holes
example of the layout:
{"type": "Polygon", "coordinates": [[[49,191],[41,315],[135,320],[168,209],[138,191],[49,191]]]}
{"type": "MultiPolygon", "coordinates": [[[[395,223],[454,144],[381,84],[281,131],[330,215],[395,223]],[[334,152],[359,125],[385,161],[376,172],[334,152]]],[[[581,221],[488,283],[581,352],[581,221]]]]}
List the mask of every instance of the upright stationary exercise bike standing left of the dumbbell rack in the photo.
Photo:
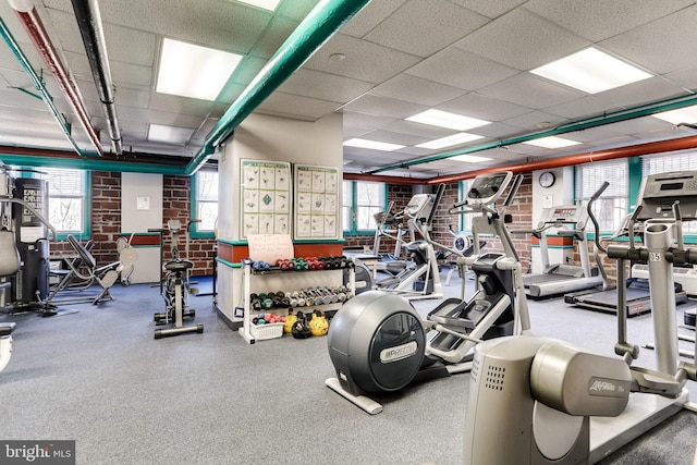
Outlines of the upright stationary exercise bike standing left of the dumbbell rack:
{"type": "MultiPolygon", "coordinates": [[[[160,281],[160,294],[164,299],[164,313],[155,314],[155,323],[174,326],[171,328],[156,329],[155,339],[180,335],[189,332],[203,333],[203,325],[184,326],[184,319],[194,319],[196,310],[188,308],[189,273],[194,268],[194,262],[188,260],[188,233],[191,225],[196,221],[189,221],[186,224],[186,258],[183,259],[179,254],[178,234],[182,230],[182,223],[179,220],[169,220],[167,227],[172,237],[172,259],[162,265],[164,270],[164,280],[160,281]]],[[[150,230],[152,231],[152,230],[150,230]]],[[[155,230],[160,232],[162,230],[155,230]]],[[[161,243],[161,241],[160,241],[161,243]]]]}

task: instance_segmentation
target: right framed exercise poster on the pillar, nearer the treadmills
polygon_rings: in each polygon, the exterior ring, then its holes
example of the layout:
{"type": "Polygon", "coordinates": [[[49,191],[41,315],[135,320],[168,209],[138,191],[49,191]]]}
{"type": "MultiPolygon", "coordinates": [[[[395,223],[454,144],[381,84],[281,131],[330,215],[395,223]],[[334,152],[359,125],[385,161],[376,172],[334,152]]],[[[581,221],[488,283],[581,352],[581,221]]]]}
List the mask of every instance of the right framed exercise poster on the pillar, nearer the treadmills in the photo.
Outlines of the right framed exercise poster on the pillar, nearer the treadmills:
{"type": "Polygon", "coordinates": [[[294,166],[294,238],[339,237],[340,176],[337,168],[294,166]]]}

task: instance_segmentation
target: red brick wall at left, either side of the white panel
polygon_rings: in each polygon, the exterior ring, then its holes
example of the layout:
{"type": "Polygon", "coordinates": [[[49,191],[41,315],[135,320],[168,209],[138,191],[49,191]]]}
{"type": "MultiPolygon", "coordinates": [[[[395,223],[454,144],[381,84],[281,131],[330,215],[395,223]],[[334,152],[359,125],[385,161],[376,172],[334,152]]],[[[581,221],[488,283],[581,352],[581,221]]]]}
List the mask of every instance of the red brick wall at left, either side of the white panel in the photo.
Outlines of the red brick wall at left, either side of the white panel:
{"type": "MultiPolygon", "coordinates": [[[[90,237],[95,241],[91,254],[97,265],[107,265],[119,259],[117,238],[121,233],[121,173],[93,171],[90,173],[91,205],[89,221],[90,237]]],[[[162,228],[170,219],[179,219],[182,224],[189,220],[189,185],[187,176],[163,176],[162,228]]],[[[212,273],[212,238],[192,238],[189,259],[194,261],[194,274],[212,273]]],[[[185,240],[180,234],[180,252],[184,254],[185,240]]],[[[164,234],[164,258],[171,257],[171,241],[164,234]]],[[[72,247],[64,242],[51,243],[52,256],[73,255],[72,247]]],[[[137,266],[137,264],[136,264],[137,266]]]]}

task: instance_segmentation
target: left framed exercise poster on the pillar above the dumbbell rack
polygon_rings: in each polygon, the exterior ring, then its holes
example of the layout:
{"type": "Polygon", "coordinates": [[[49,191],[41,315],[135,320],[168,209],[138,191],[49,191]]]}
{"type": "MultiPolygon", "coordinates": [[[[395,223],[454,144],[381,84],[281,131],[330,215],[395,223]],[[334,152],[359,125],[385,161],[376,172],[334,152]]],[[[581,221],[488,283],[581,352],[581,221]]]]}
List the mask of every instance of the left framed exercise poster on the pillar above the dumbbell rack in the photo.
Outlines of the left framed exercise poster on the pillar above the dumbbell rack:
{"type": "Polygon", "coordinates": [[[291,234],[291,163],[241,160],[241,238],[291,234]]]}

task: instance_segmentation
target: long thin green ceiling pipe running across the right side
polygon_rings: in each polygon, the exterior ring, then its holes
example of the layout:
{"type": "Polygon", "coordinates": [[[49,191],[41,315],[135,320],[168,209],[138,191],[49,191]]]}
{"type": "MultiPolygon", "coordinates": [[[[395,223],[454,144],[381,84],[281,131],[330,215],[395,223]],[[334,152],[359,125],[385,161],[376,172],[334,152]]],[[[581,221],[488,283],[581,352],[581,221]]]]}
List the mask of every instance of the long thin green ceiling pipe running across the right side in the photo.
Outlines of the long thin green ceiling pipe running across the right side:
{"type": "Polygon", "coordinates": [[[635,118],[647,117],[649,114],[659,113],[661,111],[674,110],[676,108],[689,107],[697,103],[697,96],[681,96],[673,97],[665,100],[659,100],[651,103],[645,103],[637,107],[632,107],[624,110],[617,110],[611,113],[603,113],[598,117],[591,117],[583,120],[572,121],[561,124],[552,130],[542,131],[539,133],[526,134],[517,137],[512,137],[502,140],[494,140],[487,144],[481,144],[475,147],[462,148],[444,154],[433,155],[431,157],[419,158],[416,160],[403,161],[401,163],[391,164],[389,167],[377,168],[375,170],[366,171],[365,174],[376,174],[383,171],[396,170],[400,168],[413,167],[415,164],[424,164],[431,161],[444,160],[447,158],[456,157],[458,155],[474,154],[477,151],[489,150],[497,147],[505,147],[509,145],[521,144],[528,140],[535,140],[542,137],[549,137],[560,134],[567,134],[575,131],[583,131],[590,127],[603,126],[606,124],[617,123],[620,121],[633,120],[635,118]]]}

